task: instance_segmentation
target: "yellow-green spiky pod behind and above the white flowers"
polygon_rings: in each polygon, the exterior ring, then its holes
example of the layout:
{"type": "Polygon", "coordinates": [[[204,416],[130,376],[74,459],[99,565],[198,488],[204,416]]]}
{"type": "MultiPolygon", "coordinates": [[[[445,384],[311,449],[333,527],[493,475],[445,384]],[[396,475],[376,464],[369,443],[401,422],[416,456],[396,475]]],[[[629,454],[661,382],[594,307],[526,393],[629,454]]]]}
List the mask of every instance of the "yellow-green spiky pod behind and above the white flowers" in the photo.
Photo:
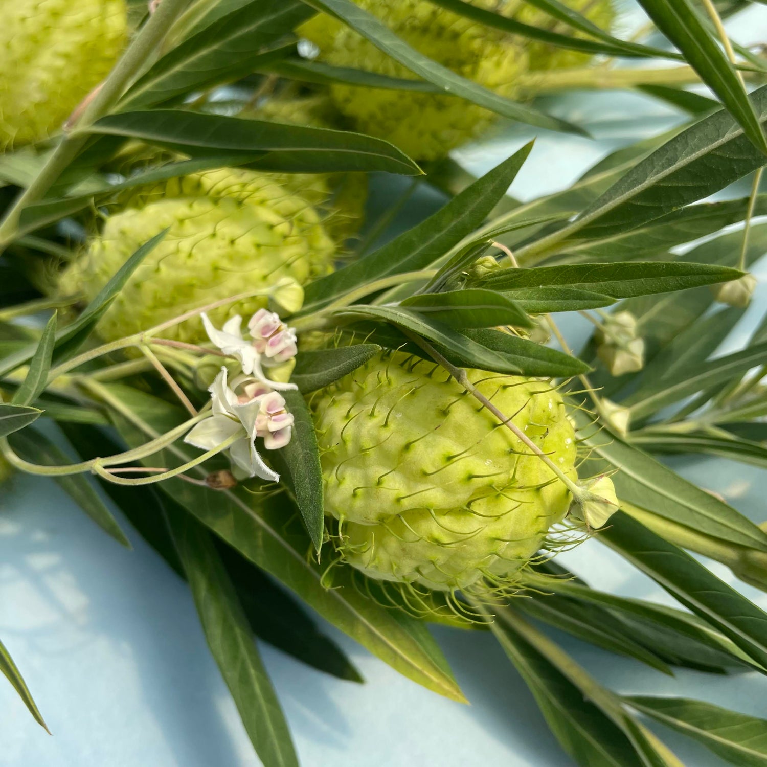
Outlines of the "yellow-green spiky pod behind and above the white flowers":
{"type": "MultiPolygon", "coordinates": [[[[61,277],[62,294],[90,300],[140,245],[169,229],[100,321],[98,332],[107,340],[282,278],[304,283],[331,271],[335,246],[318,212],[274,175],[222,169],[177,179],[165,189],[164,196],[150,190],[134,206],[108,216],[101,235],[61,277]]],[[[258,296],[210,316],[220,326],[267,304],[268,298],[258,296]]],[[[206,339],[199,319],[166,335],[206,339]]]]}

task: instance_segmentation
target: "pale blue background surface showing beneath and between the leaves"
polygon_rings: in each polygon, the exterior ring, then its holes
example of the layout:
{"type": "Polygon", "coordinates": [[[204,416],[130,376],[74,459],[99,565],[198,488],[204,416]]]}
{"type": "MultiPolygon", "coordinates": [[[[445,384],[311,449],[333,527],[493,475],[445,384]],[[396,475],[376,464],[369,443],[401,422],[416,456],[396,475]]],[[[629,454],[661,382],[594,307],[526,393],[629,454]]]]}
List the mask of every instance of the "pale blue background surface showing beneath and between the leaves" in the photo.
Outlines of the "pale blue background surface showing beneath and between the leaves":
{"type": "MultiPolygon", "coordinates": [[[[752,42],[765,25],[742,28],[742,41],[752,42]]],[[[673,121],[658,104],[625,94],[571,94],[555,110],[587,124],[598,140],[539,133],[531,160],[512,187],[522,199],[568,186],[614,146],[673,121]],[[643,120],[636,118],[638,108],[643,120]]],[[[472,170],[487,170],[527,136],[509,129],[482,148],[465,150],[460,159],[472,170]]],[[[745,340],[767,308],[767,273],[760,272],[757,299],[728,347],[745,340]]],[[[577,318],[565,324],[571,339],[583,333],[577,318]]],[[[677,460],[676,466],[723,492],[755,521],[767,518],[763,472],[719,459],[677,460]]],[[[209,657],[186,585],[138,535],[130,537],[134,550],[120,548],[47,481],[20,477],[0,489],[0,637],[54,733],[47,736],[10,686],[0,683],[0,765],[258,765],[209,657]]],[[[601,588],[669,601],[597,542],[563,559],[601,588]]],[[[726,568],[709,564],[735,583],[726,568]]],[[[767,608],[767,594],[742,590],[767,608]]],[[[571,764],[488,634],[436,630],[471,701],[462,706],[423,690],[332,627],[325,630],[347,650],[366,684],[335,680],[261,647],[306,767],[571,764]]],[[[720,677],[680,670],[670,679],[557,636],[617,690],[698,696],[767,717],[767,683],[756,674],[720,677]]],[[[659,732],[686,765],[723,764],[694,743],[659,732]]]]}

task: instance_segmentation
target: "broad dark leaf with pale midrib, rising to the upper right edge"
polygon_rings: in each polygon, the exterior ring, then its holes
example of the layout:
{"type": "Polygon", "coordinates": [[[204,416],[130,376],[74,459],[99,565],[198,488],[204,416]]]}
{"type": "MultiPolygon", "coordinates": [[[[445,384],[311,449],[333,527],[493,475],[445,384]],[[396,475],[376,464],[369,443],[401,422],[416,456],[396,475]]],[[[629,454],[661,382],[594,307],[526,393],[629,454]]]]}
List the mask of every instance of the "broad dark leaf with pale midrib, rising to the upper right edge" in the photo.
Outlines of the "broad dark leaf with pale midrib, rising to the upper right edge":
{"type": "MultiPolygon", "coordinates": [[[[750,95],[767,119],[767,86],[750,95]]],[[[765,157],[726,110],[676,134],[641,160],[571,225],[579,237],[607,237],[636,228],[724,189],[762,167],[765,157]]]]}

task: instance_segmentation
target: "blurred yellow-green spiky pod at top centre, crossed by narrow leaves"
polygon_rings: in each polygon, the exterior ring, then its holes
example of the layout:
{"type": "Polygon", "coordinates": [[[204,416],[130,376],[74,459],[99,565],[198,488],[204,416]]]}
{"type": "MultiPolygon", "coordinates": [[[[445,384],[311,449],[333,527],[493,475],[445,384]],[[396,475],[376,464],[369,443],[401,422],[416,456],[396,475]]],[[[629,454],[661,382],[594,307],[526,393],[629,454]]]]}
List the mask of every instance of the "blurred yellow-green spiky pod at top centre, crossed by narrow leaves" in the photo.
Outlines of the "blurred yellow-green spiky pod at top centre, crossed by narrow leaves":
{"type": "MultiPolygon", "coordinates": [[[[515,94],[514,81],[525,70],[527,54],[511,35],[478,25],[426,0],[356,2],[439,64],[496,93],[515,94]]],[[[473,4],[502,13],[517,5],[512,0],[475,0],[473,4]]],[[[407,67],[328,16],[311,19],[299,31],[318,46],[321,60],[328,64],[416,79],[407,67]]],[[[482,107],[437,94],[334,84],[331,97],[357,130],[391,141],[416,160],[445,156],[476,137],[493,120],[482,107]]]]}

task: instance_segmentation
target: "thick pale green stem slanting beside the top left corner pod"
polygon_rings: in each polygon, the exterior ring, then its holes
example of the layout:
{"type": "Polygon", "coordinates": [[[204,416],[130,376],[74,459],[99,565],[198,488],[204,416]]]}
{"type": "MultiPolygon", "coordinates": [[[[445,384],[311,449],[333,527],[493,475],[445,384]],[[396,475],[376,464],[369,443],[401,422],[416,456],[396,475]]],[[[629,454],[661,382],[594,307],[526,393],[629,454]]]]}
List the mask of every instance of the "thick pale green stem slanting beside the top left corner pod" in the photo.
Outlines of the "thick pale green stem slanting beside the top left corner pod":
{"type": "Polygon", "coordinates": [[[163,0],[160,3],[157,12],[150,17],[136,35],[98,93],[85,108],[79,120],[81,127],[68,135],[64,135],[61,143],[48,158],[48,162],[42,167],[38,176],[21,193],[8,211],[5,220],[0,225],[0,249],[5,248],[5,245],[8,245],[15,238],[21,211],[45,196],[48,189],[61,176],[61,173],[91,137],[91,133],[88,133],[87,129],[117,104],[130,81],[146,65],[146,61],[151,58],[153,51],[162,41],[170,25],[188,4],[189,0],[163,0]]]}

